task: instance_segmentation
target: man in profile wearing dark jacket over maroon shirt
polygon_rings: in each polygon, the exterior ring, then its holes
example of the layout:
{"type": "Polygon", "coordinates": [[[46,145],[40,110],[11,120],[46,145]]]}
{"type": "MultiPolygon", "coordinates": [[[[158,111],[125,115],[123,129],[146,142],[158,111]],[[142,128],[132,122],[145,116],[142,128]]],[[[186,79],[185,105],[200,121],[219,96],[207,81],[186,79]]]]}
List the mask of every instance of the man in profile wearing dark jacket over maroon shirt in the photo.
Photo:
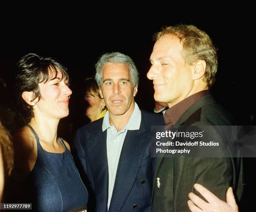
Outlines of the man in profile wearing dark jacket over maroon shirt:
{"type": "MultiPolygon", "coordinates": [[[[156,34],[148,78],[154,98],[167,103],[165,124],[235,125],[233,118],[215,102],[209,88],[215,81],[217,53],[209,36],[193,25],[166,27],[156,34]]],[[[163,157],[156,164],[153,211],[189,211],[188,194],[199,183],[225,201],[228,187],[242,193],[240,159],[216,157],[163,157]]],[[[195,192],[196,193],[196,192],[195,192]]],[[[197,193],[198,194],[198,193],[197,193]]]]}

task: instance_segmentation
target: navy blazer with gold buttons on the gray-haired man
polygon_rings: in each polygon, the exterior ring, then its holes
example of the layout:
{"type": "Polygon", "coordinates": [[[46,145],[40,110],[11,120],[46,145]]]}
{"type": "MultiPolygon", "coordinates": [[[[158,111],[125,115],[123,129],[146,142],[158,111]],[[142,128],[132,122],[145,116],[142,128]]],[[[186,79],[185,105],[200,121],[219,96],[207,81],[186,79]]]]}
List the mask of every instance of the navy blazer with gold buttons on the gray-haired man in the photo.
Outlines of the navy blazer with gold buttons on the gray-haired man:
{"type": "MultiPolygon", "coordinates": [[[[107,130],[103,118],[76,132],[74,147],[79,172],[91,189],[96,211],[108,211],[107,130]]],[[[109,211],[151,211],[155,159],[151,158],[151,126],[164,125],[158,114],[141,111],[138,130],[128,130],[123,143],[109,211]]],[[[90,202],[89,202],[90,204],[90,202]]]]}

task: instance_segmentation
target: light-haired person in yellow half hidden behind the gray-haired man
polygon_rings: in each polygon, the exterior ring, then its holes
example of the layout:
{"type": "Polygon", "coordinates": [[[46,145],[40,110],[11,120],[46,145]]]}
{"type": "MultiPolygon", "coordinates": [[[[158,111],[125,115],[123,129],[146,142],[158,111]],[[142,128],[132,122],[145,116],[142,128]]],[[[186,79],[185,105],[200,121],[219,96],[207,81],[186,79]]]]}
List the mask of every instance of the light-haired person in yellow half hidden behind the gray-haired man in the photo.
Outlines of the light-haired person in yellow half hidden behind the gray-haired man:
{"type": "Polygon", "coordinates": [[[84,100],[87,102],[85,116],[91,122],[105,116],[107,109],[104,99],[100,97],[100,89],[94,78],[85,79],[84,100]]]}

